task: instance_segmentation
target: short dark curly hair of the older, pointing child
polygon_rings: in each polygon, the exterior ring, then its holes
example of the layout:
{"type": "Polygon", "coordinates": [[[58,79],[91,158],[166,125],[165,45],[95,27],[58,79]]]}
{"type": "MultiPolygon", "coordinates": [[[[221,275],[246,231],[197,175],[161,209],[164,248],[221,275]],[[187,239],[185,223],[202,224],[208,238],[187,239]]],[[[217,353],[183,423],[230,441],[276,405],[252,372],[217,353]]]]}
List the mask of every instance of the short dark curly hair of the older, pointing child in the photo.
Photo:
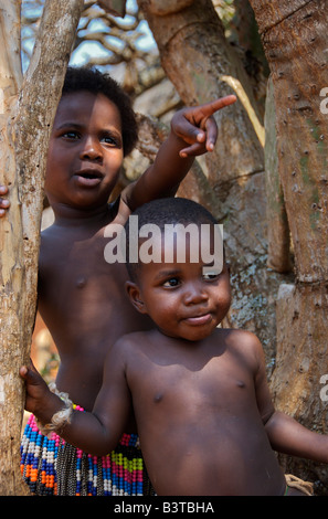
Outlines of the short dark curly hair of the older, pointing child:
{"type": "Polygon", "coordinates": [[[124,156],[131,152],[138,139],[138,125],[129,96],[107,73],[89,66],[68,66],[62,96],[74,92],[87,91],[103,94],[114,103],[120,114],[124,156]]]}

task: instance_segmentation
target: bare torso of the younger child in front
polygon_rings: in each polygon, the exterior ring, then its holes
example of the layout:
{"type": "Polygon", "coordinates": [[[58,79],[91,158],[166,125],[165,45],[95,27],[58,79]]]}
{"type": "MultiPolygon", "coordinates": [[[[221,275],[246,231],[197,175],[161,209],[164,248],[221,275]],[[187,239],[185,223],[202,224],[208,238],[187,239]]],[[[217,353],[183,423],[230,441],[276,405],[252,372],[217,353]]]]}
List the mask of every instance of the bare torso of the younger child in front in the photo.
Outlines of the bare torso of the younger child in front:
{"type": "Polygon", "coordinates": [[[253,360],[233,335],[220,330],[201,347],[176,347],[156,330],[130,336],[127,382],[159,495],[284,494],[256,404],[253,360]]]}

